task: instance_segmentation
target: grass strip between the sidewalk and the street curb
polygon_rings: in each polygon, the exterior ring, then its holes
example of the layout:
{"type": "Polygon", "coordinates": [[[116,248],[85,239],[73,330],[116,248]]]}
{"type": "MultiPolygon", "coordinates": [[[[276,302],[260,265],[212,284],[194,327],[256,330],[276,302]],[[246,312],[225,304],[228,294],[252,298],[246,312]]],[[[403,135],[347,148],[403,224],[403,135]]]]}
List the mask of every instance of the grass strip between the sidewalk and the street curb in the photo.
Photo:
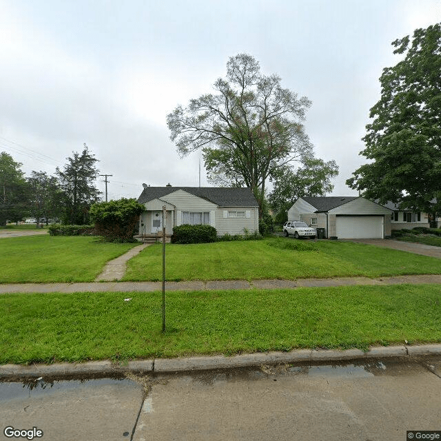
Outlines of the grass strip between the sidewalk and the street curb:
{"type": "Polygon", "coordinates": [[[441,342],[441,286],[0,296],[0,363],[441,342]],[[125,301],[125,298],[131,298],[125,301]]]}

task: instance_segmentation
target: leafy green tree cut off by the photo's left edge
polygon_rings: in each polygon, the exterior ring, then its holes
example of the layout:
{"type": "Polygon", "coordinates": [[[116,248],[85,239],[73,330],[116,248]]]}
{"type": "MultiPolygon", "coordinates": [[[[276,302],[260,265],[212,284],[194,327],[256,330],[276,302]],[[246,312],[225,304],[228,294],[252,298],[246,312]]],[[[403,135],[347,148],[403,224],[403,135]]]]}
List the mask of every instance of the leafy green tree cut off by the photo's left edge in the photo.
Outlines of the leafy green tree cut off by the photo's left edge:
{"type": "Polygon", "coordinates": [[[28,212],[28,192],[21,163],[0,153],[0,225],[21,220],[28,212]]]}

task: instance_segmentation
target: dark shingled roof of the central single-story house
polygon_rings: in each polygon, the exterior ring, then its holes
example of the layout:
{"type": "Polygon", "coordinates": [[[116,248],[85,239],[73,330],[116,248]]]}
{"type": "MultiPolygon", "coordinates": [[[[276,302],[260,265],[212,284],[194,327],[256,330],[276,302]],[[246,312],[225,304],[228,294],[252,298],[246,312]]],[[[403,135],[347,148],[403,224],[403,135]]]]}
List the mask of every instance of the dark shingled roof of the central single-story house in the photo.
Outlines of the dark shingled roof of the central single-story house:
{"type": "Polygon", "coordinates": [[[232,187],[145,187],[138,198],[138,202],[142,204],[156,198],[163,198],[179,189],[212,202],[219,207],[258,207],[251,189],[232,187]]]}

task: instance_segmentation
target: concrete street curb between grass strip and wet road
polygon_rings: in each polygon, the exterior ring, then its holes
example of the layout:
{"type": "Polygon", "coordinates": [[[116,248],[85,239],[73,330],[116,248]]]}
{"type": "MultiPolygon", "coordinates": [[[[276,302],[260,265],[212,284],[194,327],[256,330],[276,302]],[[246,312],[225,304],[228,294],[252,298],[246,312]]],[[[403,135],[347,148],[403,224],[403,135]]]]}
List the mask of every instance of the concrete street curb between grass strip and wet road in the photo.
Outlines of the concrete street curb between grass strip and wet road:
{"type": "Polygon", "coordinates": [[[298,362],[338,362],[369,360],[376,358],[409,358],[413,356],[440,356],[441,345],[371,347],[360,349],[338,349],[316,351],[297,349],[290,352],[271,351],[265,353],[240,354],[233,357],[201,356],[189,358],[158,358],[155,360],[134,360],[127,365],[118,365],[110,360],[85,363],[57,363],[54,365],[1,365],[0,379],[25,379],[48,376],[66,378],[73,376],[123,376],[125,373],[178,373],[207,371],[212,369],[234,369],[260,367],[298,362]]]}

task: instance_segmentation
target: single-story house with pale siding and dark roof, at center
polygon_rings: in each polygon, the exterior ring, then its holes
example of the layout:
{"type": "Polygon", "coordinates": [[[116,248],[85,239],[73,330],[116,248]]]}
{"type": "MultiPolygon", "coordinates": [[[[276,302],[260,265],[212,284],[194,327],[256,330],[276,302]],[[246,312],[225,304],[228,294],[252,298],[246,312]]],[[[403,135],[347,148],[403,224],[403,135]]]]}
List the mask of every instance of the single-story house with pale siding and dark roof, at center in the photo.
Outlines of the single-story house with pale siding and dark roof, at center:
{"type": "Polygon", "coordinates": [[[167,220],[165,233],[183,224],[212,225],[218,236],[258,231],[258,203],[251,189],[229,187],[149,187],[143,184],[138,202],[145,206],[139,220],[139,236],[162,232],[162,210],[167,220]]]}

